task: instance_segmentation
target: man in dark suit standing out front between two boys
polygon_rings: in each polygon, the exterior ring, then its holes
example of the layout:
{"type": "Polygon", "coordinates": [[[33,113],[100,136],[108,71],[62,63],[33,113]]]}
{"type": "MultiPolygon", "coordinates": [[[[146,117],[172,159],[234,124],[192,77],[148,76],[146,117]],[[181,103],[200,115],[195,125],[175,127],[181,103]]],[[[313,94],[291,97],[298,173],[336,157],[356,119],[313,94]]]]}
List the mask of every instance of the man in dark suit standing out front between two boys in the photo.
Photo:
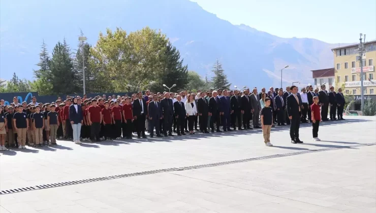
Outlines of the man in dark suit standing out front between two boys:
{"type": "Polygon", "coordinates": [[[291,120],[291,143],[300,144],[303,143],[303,141],[299,139],[302,100],[300,99],[300,96],[297,95],[298,88],[296,86],[291,86],[290,88],[292,93],[286,98],[286,108],[289,119],[291,120]]]}

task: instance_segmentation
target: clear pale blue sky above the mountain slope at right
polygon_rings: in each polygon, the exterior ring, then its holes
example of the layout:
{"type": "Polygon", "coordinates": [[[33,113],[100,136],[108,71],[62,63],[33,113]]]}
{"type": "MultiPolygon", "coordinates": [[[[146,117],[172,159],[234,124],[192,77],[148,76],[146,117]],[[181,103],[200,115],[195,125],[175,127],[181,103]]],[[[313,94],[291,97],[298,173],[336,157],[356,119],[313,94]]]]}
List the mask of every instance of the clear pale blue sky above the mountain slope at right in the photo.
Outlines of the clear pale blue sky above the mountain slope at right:
{"type": "Polygon", "coordinates": [[[376,0],[191,1],[232,24],[246,24],[278,37],[353,43],[359,42],[361,32],[367,41],[376,39],[376,0]]]}

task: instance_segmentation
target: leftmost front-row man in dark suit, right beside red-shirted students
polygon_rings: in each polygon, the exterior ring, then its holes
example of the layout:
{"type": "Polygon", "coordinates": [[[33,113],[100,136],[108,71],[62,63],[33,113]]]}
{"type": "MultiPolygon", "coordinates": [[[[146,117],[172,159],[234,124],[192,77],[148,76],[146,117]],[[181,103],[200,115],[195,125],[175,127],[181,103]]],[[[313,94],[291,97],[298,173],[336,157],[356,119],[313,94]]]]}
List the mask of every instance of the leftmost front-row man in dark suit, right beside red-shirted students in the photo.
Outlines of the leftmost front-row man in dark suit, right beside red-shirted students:
{"type": "Polygon", "coordinates": [[[146,101],[142,98],[142,92],[137,94],[138,99],[133,102],[133,116],[135,119],[137,137],[146,138],[145,135],[145,119],[147,115],[146,101]]]}

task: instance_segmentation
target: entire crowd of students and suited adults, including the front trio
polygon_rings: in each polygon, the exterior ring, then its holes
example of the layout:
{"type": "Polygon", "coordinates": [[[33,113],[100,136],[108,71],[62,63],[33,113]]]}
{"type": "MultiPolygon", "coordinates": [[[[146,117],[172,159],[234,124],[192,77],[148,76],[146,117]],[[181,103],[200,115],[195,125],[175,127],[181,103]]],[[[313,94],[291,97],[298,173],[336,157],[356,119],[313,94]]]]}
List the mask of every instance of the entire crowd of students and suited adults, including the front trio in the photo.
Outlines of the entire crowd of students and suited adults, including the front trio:
{"type": "Polygon", "coordinates": [[[312,136],[318,138],[320,121],[342,118],[345,104],[341,89],[321,91],[307,86],[298,92],[296,86],[209,91],[153,93],[149,90],[132,96],[90,97],[67,96],[52,103],[32,102],[4,105],[0,100],[0,151],[55,146],[56,139],[101,141],[168,137],[221,131],[263,130],[264,143],[270,143],[270,130],[275,125],[290,125],[292,143],[299,139],[300,123],[312,123],[312,136]],[[252,121],[252,122],[251,122],[252,121]],[[261,121],[261,122],[260,122],[261,121]],[[222,129],[222,130],[221,130],[222,129]]]}

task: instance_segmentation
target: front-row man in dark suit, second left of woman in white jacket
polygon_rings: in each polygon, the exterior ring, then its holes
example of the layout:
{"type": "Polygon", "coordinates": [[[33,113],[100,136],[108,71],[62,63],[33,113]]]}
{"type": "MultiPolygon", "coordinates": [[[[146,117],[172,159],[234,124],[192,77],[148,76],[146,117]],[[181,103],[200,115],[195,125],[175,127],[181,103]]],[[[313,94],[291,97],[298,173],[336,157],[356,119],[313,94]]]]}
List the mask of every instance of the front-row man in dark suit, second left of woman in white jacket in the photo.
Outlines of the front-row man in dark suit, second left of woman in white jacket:
{"type": "Polygon", "coordinates": [[[172,116],[174,115],[174,106],[172,104],[172,100],[170,98],[170,93],[165,93],[165,98],[161,100],[161,107],[163,111],[163,133],[165,137],[172,135],[172,116]]]}

